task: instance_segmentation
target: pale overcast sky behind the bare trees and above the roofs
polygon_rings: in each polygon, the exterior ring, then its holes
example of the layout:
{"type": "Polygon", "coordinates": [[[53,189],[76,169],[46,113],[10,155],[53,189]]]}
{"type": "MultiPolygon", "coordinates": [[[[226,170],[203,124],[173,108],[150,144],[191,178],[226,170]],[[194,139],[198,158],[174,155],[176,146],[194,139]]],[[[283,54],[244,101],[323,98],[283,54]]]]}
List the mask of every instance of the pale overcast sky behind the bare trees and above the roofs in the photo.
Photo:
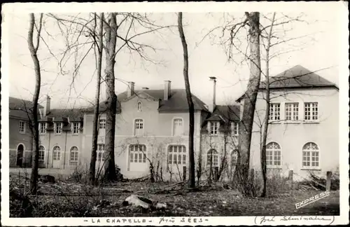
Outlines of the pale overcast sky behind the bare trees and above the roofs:
{"type": "MultiPolygon", "coordinates": [[[[293,28],[287,32],[287,38],[308,35],[306,38],[293,41],[291,44],[295,47],[294,52],[282,55],[271,62],[270,74],[293,67],[297,64],[317,71],[326,67],[330,69],[318,71],[320,76],[329,81],[338,84],[339,77],[339,12],[330,11],[326,7],[316,8],[314,10],[305,10],[303,20],[309,22],[297,22],[292,25],[293,28]],[[299,50],[302,47],[302,50],[299,50]]],[[[321,4],[319,5],[321,6],[321,4]]],[[[310,8],[311,9],[311,8],[310,8]]],[[[290,17],[295,17],[299,13],[285,13],[290,17]]],[[[230,13],[241,21],[244,12],[230,13]]],[[[267,15],[262,13],[262,15],[267,15]]],[[[268,14],[271,16],[270,14],[268,14]]],[[[277,14],[279,15],[279,14],[277,14]]],[[[176,25],[176,13],[156,13],[153,15],[155,20],[162,25],[176,25]]],[[[34,70],[31,56],[27,47],[27,32],[29,27],[29,17],[26,14],[13,13],[6,18],[10,22],[9,51],[10,51],[10,96],[31,99],[34,91],[34,70]]],[[[45,19],[45,15],[44,15],[45,19]]],[[[58,34],[57,26],[50,19],[45,19],[46,29],[50,34],[58,34]],[[56,33],[55,33],[56,32],[56,33]]],[[[228,62],[228,57],[222,46],[216,45],[215,40],[210,37],[199,43],[205,34],[216,26],[222,25],[225,19],[223,13],[183,13],[183,23],[185,35],[188,42],[189,67],[190,67],[190,85],[192,92],[200,97],[204,102],[211,102],[211,82],[209,76],[216,76],[217,79],[217,103],[226,104],[241,95],[246,88],[246,78],[248,76],[248,67],[245,62],[237,64],[242,55],[235,55],[235,62],[228,62]]],[[[220,34],[220,33],[215,33],[220,34]]],[[[55,39],[48,38],[47,44],[55,55],[59,49],[62,49],[64,41],[62,37],[55,36],[55,39]]],[[[45,38],[44,37],[44,38],[45,38]]],[[[241,36],[241,42],[246,40],[241,36]]],[[[143,41],[149,45],[159,48],[152,57],[160,60],[162,64],[152,64],[142,61],[137,55],[124,51],[116,59],[116,93],[124,92],[127,85],[122,81],[134,81],[136,89],[148,87],[150,89],[161,89],[165,80],[172,81],[172,88],[184,88],[183,82],[183,49],[179,38],[179,32],[176,27],[166,29],[161,34],[145,36],[143,41]]],[[[243,44],[244,45],[244,44],[243,44]]],[[[290,44],[281,44],[278,50],[290,48],[290,44]]],[[[83,53],[80,53],[83,55],[83,53]]],[[[94,98],[94,55],[87,55],[85,61],[80,67],[78,76],[73,83],[74,89],[71,89],[73,60],[71,69],[66,67],[66,74],[59,74],[57,60],[48,53],[48,48],[41,41],[41,50],[39,51],[42,71],[41,97],[51,96],[51,106],[55,107],[73,107],[87,105],[87,100],[94,98]],[[69,102],[67,102],[69,100],[69,102]]],[[[265,64],[262,62],[262,64],[265,64]]],[[[104,65],[103,65],[104,68],[104,65]]],[[[102,86],[104,88],[104,86],[102,86]]],[[[102,98],[104,98],[102,90],[102,98]]]]}

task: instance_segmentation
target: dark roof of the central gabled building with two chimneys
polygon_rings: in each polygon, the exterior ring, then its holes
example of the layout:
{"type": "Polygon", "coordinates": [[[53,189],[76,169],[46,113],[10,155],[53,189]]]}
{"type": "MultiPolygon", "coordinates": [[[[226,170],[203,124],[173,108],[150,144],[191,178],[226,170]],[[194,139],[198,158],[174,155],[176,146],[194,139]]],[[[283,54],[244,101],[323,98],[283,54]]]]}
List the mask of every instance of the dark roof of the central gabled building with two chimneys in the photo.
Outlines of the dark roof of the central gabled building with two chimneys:
{"type": "MultiPolygon", "coordinates": [[[[160,100],[160,106],[158,111],[188,111],[188,103],[186,97],[185,89],[174,89],[170,92],[170,97],[167,100],[164,100],[164,90],[135,90],[134,96],[141,95],[145,93],[149,95],[155,100],[160,100]]],[[[133,96],[133,97],[134,97],[133,96]]],[[[118,104],[117,109],[120,110],[120,102],[125,102],[127,100],[127,92],[122,92],[117,95],[118,104]]],[[[203,110],[208,111],[204,102],[200,100],[198,97],[192,94],[193,104],[195,106],[195,110],[203,110]]],[[[101,102],[99,105],[99,111],[106,110],[106,103],[101,102]]],[[[85,111],[93,111],[93,107],[85,109],[85,111]]]]}

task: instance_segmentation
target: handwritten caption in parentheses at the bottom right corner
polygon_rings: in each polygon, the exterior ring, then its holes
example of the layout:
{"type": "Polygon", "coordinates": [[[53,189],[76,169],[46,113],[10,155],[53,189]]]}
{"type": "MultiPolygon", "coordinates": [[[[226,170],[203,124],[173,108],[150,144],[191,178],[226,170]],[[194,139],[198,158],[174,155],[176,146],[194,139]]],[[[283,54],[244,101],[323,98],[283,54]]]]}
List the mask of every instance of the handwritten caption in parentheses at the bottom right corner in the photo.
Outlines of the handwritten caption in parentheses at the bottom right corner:
{"type": "Polygon", "coordinates": [[[255,224],[261,225],[261,224],[271,224],[273,222],[309,222],[309,221],[315,221],[317,223],[323,222],[328,223],[329,225],[334,221],[335,216],[255,216],[255,224]]]}

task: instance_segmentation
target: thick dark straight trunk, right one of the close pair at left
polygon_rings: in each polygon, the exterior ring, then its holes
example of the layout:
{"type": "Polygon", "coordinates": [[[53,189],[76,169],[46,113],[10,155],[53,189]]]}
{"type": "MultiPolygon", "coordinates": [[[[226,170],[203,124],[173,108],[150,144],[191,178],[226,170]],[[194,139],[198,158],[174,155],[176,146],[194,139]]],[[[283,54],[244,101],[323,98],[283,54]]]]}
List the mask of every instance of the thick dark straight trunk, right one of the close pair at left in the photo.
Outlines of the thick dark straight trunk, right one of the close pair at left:
{"type": "Polygon", "coordinates": [[[109,15],[106,30],[106,165],[104,179],[115,181],[117,179],[116,164],[114,161],[114,142],[116,132],[117,95],[115,92],[114,65],[117,43],[116,13],[109,15]]]}

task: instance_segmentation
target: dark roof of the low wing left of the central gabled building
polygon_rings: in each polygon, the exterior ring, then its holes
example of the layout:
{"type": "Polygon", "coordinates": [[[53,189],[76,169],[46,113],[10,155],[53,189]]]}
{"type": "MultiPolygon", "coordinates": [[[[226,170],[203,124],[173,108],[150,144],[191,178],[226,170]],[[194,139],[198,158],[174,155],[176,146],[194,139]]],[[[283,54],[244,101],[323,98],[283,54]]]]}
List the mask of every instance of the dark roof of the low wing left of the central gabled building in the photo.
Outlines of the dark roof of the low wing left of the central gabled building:
{"type": "Polygon", "coordinates": [[[48,121],[48,118],[55,118],[55,121],[65,121],[64,118],[69,118],[69,121],[82,121],[84,117],[84,109],[50,109],[50,113],[40,121],[48,121]]]}

